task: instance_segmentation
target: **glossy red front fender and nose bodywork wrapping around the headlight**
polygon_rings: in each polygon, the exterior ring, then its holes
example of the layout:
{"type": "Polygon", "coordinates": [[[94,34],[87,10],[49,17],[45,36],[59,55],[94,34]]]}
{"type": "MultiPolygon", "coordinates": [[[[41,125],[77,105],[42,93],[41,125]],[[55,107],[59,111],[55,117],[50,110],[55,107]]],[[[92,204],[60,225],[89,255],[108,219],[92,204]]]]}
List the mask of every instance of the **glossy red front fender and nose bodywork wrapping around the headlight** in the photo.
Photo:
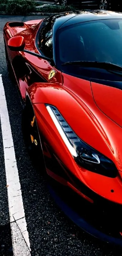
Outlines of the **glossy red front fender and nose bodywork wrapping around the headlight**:
{"type": "MultiPolygon", "coordinates": [[[[91,112],[90,108],[84,106],[83,102],[77,101],[77,98],[73,97],[64,87],[51,83],[36,83],[28,89],[27,95],[33,104],[39,132],[46,145],[46,148],[43,147],[43,149],[45,148],[43,153],[45,159],[47,159],[47,164],[49,161],[50,163],[54,161],[51,157],[53,154],[60,166],[65,166],[67,170],[70,170],[73,175],[94,192],[109,200],[122,203],[120,177],[105,177],[79,166],[64,144],[45,103],[55,106],[77,136],[110,158],[116,164],[120,173],[122,171],[122,160],[120,161],[121,154],[118,154],[118,150],[122,152],[122,143],[120,143],[120,137],[119,141],[116,140],[118,136],[115,137],[115,131],[120,134],[121,128],[108,119],[97,106],[95,106],[96,112],[91,112]],[[111,189],[116,193],[111,193],[111,189]]],[[[49,168],[51,168],[51,164],[48,165],[48,171],[49,168]]],[[[58,172],[59,168],[56,169],[58,172]]],[[[51,171],[53,172],[53,169],[51,171]]]]}

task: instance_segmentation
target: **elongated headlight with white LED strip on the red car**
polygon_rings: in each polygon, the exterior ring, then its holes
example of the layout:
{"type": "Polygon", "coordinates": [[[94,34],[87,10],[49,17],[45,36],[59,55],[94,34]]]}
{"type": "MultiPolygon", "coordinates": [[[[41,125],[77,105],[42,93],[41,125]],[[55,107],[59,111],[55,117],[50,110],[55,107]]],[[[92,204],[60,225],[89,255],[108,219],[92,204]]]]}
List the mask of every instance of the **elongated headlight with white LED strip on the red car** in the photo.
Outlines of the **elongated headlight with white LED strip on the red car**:
{"type": "Polygon", "coordinates": [[[86,170],[107,177],[114,178],[117,176],[117,168],[109,158],[79,139],[54,106],[46,104],[46,108],[64,143],[78,164],[86,170]]]}

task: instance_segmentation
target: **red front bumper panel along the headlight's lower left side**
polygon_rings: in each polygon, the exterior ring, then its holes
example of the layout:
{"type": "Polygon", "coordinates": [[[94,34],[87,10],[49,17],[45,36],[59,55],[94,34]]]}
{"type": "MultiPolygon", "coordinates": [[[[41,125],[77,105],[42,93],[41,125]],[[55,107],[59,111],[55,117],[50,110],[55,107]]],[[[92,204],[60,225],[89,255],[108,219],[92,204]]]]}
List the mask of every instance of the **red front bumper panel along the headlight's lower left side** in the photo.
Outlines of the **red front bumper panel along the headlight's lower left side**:
{"type": "MultiPolygon", "coordinates": [[[[68,186],[67,181],[69,178],[70,183],[77,188],[77,183],[75,183],[75,179],[72,178],[72,175],[74,175],[81,182],[81,188],[83,183],[100,196],[122,204],[122,186],[119,176],[109,178],[79,166],[62,140],[45,104],[35,103],[33,104],[33,108],[40,132],[41,145],[48,175],[66,186],[68,186]],[[113,189],[115,193],[111,193],[111,189],[113,189]]],[[[73,109],[71,109],[71,111],[72,110],[73,109]]],[[[99,136],[99,141],[100,140],[101,137],[99,136]]],[[[104,144],[103,142],[103,145],[104,144]]]]}

